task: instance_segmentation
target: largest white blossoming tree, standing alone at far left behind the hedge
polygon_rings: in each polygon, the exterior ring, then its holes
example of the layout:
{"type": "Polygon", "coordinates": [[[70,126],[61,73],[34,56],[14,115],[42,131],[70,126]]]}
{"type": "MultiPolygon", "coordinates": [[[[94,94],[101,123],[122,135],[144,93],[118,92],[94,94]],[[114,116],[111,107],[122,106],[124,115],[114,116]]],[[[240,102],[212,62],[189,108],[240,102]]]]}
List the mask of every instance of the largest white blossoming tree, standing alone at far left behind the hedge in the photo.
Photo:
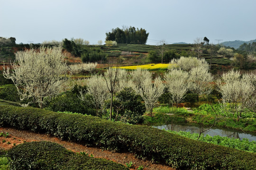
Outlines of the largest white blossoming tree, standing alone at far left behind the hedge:
{"type": "Polygon", "coordinates": [[[21,101],[30,101],[24,106],[37,103],[43,108],[45,97],[57,94],[68,79],[62,48],[40,47],[18,51],[15,56],[11,68],[4,69],[4,77],[13,81],[21,101]]]}

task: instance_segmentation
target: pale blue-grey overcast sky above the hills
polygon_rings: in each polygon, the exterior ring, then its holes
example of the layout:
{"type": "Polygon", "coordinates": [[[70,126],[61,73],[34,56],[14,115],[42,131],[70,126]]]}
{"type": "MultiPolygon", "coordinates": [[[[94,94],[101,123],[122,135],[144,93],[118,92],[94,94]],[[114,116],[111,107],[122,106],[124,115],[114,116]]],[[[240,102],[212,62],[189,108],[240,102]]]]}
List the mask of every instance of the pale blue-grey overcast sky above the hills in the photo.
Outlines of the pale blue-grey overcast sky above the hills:
{"type": "Polygon", "coordinates": [[[105,41],[112,28],[134,26],[147,44],[256,39],[256,0],[0,0],[0,37],[16,43],[83,38],[105,41]]]}

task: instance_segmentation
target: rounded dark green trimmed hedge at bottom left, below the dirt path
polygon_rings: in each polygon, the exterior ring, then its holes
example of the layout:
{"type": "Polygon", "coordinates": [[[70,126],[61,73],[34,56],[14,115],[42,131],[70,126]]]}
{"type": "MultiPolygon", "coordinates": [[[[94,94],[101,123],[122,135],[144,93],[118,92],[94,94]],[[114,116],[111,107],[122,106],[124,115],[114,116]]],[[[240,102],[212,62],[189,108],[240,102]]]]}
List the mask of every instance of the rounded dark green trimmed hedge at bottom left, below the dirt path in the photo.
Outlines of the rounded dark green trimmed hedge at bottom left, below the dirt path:
{"type": "Polygon", "coordinates": [[[7,157],[10,170],[129,170],[113,161],[76,154],[46,141],[19,144],[8,151],[7,157]]]}

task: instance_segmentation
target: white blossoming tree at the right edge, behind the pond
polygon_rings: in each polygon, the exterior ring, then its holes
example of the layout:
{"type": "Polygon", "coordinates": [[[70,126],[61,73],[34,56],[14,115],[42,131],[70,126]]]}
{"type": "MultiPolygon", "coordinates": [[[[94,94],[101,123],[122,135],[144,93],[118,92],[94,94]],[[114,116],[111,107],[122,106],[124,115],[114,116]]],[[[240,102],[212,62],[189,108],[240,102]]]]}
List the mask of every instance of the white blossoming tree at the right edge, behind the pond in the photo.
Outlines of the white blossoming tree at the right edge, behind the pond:
{"type": "Polygon", "coordinates": [[[226,112],[233,114],[234,121],[239,121],[244,109],[255,111],[256,76],[241,75],[231,70],[224,73],[217,81],[218,90],[222,94],[222,103],[226,112]]]}

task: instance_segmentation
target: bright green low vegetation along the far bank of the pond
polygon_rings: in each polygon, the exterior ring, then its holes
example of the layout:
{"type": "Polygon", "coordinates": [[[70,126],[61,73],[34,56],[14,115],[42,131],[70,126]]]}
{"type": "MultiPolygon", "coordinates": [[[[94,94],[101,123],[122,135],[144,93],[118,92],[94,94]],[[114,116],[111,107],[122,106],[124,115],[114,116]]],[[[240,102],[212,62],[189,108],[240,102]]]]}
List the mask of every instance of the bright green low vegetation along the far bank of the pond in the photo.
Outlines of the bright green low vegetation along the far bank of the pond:
{"type": "Polygon", "coordinates": [[[256,131],[255,113],[245,111],[242,113],[239,122],[234,122],[233,115],[222,111],[220,104],[202,104],[193,111],[188,111],[185,108],[161,106],[153,110],[154,117],[144,116],[144,123],[151,126],[188,123],[208,127],[214,122],[215,111],[218,114],[216,127],[227,127],[247,132],[256,131]]]}

